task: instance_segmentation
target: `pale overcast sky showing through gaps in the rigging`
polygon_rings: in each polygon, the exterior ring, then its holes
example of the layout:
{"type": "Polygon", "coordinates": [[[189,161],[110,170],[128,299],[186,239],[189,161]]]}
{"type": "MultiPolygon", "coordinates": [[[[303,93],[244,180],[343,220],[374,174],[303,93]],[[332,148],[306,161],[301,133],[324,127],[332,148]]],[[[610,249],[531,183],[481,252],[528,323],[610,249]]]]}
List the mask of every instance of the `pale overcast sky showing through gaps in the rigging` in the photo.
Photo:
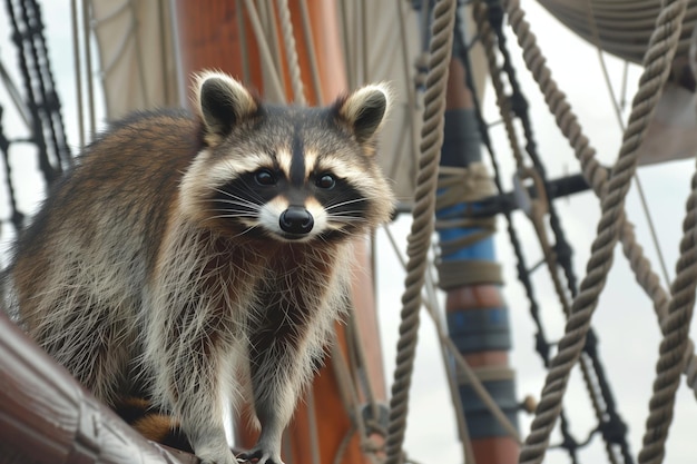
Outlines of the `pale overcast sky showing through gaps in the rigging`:
{"type": "MultiPolygon", "coordinates": [[[[567,93],[592,146],[598,149],[598,157],[603,164],[611,165],[617,157],[621,142],[621,131],[602,80],[596,50],[569,33],[537,3],[527,1],[523,2],[523,7],[528,10],[528,19],[532,23],[533,31],[548,58],[553,77],[559,87],[567,93]]],[[[68,26],[70,23],[69,3],[67,1],[45,2],[45,19],[55,76],[63,101],[63,116],[68,125],[69,139],[75,145],[77,142],[77,128],[75,124],[75,75],[70,53],[72,46],[68,26]]],[[[6,11],[2,9],[0,11],[0,31],[2,31],[0,33],[0,56],[6,66],[12,67],[16,62],[16,52],[8,40],[9,32],[7,31],[9,28],[7,24],[6,11]]],[[[531,105],[530,110],[539,152],[547,166],[549,176],[556,178],[578,172],[578,162],[568,142],[557,130],[553,119],[548,115],[537,86],[532,82],[519,58],[514,40],[509,43],[516,57],[518,76],[531,105]]],[[[616,92],[619,92],[622,62],[610,57],[607,58],[607,62],[616,92]]],[[[628,101],[631,101],[639,72],[637,67],[630,68],[628,101]]],[[[0,89],[0,101],[3,106],[7,102],[7,95],[3,89],[0,89]]],[[[487,119],[490,121],[499,119],[493,101],[491,89],[489,89],[485,103],[487,119]]],[[[11,110],[6,108],[3,117],[6,127],[14,122],[13,118],[16,119],[16,116],[13,117],[11,110]]],[[[493,134],[499,161],[505,172],[504,180],[510,188],[510,179],[514,169],[513,161],[508,155],[507,140],[501,127],[495,128],[493,134]]],[[[22,189],[35,192],[41,191],[39,179],[32,177],[32,166],[18,162],[17,168],[24,169],[26,172],[22,189]]],[[[674,161],[639,170],[658,231],[660,247],[668,263],[671,277],[675,274],[681,220],[693,171],[693,160],[674,161]]],[[[37,199],[37,194],[26,194],[21,198],[21,205],[24,209],[29,209],[37,199]]],[[[559,200],[557,206],[567,237],[575,248],[575,266],[580,282],[585,275],[583,269],[588,260],[590,244],[596,234],[599,218],[598,200],[592,194],[586,192],[559,200]]],[[[627,209],[629,218],[637,226],[638,239],[644,244],[647,256],[658,269],[656,251],[649,240],[646,226],[647,220],[634,188],[628,196],[627,209]]],[[[516,214],[514,219],[523,239],[523,249],[528,263],[534,264],[541,258],[541,251],[532,229],[521,214],[516,214]]],[[[499,228],[504,230],[502,221],[499,221],[499,228]]],[[[404,237],[409,230],[408,219],[400,219],[392,226],[392,230],[404,244],[404,237]]],[[[2,239],[7,240],[8,235],[4,234],[2,239]]],[[[504,231],[497,235],[495,245],[505,277],[503,295],[509,304],[513,330],[511,365],[518,373],[518,397],[520,399],[526,395],[538,397],[543,384],[544,371],[541,368],[541,361],[534,352],[534,328],[528,313],[529,304],[517,280],[516,263],[504,231]]],[[[377,257],[380,323],[385,369],[390,378],[394,365],[403,275],[395,270],[400,266],[399,261],[389,251],[390,246],[382,231],[379,234],[377,249],[380,249],[377,257]]],[[[552,340],[557,339],[563,330],[563,318],[549,276],[543,267],[534,274],[534,285],[547,335],[552,340]]],[[[454,419],[441,368],[440,354],[433,337],[433,328],[425,314],[422,316],[422,320],[405,447],[412,457],[424,464],[459,463],[462,462],[461,448],[455,440],[454,419]]],[[[634,276],[619,248],[606,290],[593,317],[593,327],[599,335],[601,358],[620,413],[629,425],[630,446],[636,456],[640,450],[648,414],[648,398],[658,355],[659,329],[652,305],[635,284],[634,276]]],[[[694,336],[695,330],[691,333],[694,336]]],[[[590,428],[595,426],[595,418],[578,372],[572,375],[565,404],[572,432],[577,438],[583,440],[590,428]]],[[[527,434],[530,419],[528,416],[520,416],[523,435],[527,434]]],[[[676,464],[695,462],[697,447],[694,444],[694,431],[696,427],[695,398],[691,392],[681,385],[678,393],[676,417],[670,430],[666,462],[676,464]]],[[[553,441],[558,442],[558,438],[559,436],[554,435],[553,441]]],[[[596,437],[580,455],[581,462],[607,461],[599,437],[596,437]]],[[[562,452],[553,451],[548,453],[546,462],[566,463],[569,460],[562,452]]]]}

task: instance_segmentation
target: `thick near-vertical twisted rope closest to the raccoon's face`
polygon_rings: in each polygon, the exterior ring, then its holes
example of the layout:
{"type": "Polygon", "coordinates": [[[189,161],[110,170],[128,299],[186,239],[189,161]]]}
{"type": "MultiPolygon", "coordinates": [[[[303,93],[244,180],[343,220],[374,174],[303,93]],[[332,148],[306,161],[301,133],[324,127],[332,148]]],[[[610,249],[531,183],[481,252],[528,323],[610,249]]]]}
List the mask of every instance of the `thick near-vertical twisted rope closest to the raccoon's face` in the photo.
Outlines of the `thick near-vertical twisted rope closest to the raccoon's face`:
{"type": "Polygon", "coordinates": [[[406,264],[405,288],[402,295],[402,322],[390,402],[390,426],[385,442],[387,464],[399,464],[402,461],[402,444],[409,409],[409,388],[419,335],[421,289],[429,265],[428,254],[433,234],[438,167],[443,145],[445,83],[452,52],[455,6],[455,0],[439,0],[434,7],[431,24],[429,75],[424,95],[424,124],[421,130],[421,158],[416,176],[413,223],[408,239],[409,261],[406,264]]]}

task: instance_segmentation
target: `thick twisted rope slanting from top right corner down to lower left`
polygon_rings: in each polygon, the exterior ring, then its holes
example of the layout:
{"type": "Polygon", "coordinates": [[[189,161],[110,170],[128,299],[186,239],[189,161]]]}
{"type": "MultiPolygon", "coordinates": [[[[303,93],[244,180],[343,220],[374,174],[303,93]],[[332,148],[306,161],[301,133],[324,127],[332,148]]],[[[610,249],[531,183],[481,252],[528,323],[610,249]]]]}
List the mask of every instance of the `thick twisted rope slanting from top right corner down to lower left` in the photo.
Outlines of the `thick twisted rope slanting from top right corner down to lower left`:
{"type": "MultiPolygon", "coordinates": [[[[514,3],[513,0],[509,3],[514,3]]],[[[660,97],[660,90],[670,70],[677,49],[680,23],[685,14],[685,2],[667,2],[662,8],[657,27],[649,41],[645,58],[645,71],[632,102],[632,111],[622,140],[622,147],[612,168],[608,191],[602,197],[602,215],[598,224],[598,236],[591,247],[587,275],[581,292],[572,305],[572,313],[559,342],[559,352],[551,363],[542,389],[531,432],[521,450],[521,463],[540,463],[544,457],[549,436],[561,411],[561,401],[567,388],[569,373],[578,362],[591,316],[597,307],[599,294],[605,287],[612,266],[612,249],[619,238],[618,221],[622,219],[625,198],[637,167],[637,149],[660,97]]],[[[513,21],[513,18],[510,19],[513,21]]],[[[621,223],[619,223],[621,225],[621,223]]]]}

